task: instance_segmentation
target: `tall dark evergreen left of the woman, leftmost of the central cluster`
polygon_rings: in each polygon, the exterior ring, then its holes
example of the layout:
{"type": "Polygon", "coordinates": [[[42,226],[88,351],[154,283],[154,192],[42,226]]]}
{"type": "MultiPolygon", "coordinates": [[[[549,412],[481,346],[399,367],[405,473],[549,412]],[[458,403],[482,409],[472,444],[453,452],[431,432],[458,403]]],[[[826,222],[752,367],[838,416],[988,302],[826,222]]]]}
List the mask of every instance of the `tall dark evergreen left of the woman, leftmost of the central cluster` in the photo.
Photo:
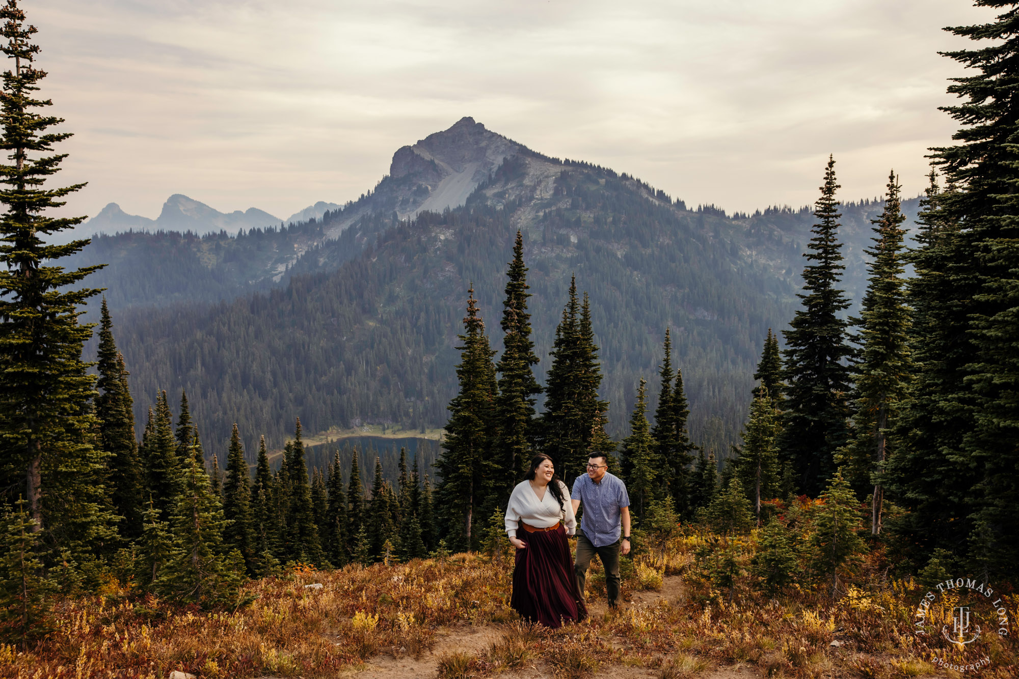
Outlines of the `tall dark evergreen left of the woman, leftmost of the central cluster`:
{"type": "Polygon", "coordinates": [[[461,549],[471,550],[477,543],[477,535],[472,535],[474,516],[491,496],[500,473],[498,460],[491,455],[495,438],[495,352],[489,347],[473,286],[468,290],[464,331],[458,336],[462,345],[457,347],[461,351],[457,365],[460,392],[449,402],[451,414],[442,441],[443,452],[435,466],[442,478],[436,494],[448,517],[450,541],[461,549]]]}

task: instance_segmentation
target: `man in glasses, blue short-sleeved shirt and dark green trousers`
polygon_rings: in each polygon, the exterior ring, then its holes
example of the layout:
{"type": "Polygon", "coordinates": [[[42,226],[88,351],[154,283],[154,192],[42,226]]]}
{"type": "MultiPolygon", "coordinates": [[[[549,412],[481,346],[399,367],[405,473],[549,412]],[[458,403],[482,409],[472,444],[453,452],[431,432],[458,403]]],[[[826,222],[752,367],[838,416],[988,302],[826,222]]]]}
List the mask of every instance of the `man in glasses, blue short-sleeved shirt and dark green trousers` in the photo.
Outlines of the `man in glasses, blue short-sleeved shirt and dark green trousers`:
{"type": "Polygon", "coordinates": [[[603,453],[591,453],[587,473],[574,482],[570,501],[575,514],[581,503],[584,505],[574,562],[577,590],[583,598],[587,569],[597,554],[605,569],[608,606],[615,608],[620,599],[620,552],[630,554],[630,496],[623,480],[608,473],[608,458],[603,453]]]}

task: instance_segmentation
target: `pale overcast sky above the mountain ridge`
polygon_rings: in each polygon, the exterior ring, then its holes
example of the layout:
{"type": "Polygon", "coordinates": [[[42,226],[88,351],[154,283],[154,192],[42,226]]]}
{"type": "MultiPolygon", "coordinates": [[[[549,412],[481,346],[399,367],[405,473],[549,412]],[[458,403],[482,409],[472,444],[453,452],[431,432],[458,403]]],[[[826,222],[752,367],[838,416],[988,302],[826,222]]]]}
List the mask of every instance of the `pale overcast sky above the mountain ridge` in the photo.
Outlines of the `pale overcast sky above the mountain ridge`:
{"type": "Polygon", "coordinates": [[[24,0],[75,214],[171,193],[287,217],[373,187],[465,115],[688,205],[925,180],[967,0],[24,0]]]}

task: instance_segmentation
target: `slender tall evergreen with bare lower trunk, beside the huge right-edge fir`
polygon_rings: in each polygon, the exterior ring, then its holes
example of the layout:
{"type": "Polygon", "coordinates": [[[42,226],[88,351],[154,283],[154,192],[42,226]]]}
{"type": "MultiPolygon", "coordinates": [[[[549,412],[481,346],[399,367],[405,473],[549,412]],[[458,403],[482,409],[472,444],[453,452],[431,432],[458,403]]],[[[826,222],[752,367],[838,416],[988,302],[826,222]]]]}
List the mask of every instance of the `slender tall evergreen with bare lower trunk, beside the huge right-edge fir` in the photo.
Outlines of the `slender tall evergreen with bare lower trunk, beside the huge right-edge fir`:
{"type": "Polygon", "coordinates": [[[873,489],[871,534],[881,531],[881,507],[884,488],[877,477],[884,460],[892,454],[889,432],[894,428],[899,406],[906,394],[912,363],[907,339],[909,308],[903,290],[902,260],[905,230],[899,201],[900,186],[895,173],[889,175],[888,199],[875,225],[874,247],[866,250],[871,262],[867,291],[862,310],[854,322],[860,328],[862,345],[856,366],[855,437],[839,461],[855,486],[873,489]]]}

